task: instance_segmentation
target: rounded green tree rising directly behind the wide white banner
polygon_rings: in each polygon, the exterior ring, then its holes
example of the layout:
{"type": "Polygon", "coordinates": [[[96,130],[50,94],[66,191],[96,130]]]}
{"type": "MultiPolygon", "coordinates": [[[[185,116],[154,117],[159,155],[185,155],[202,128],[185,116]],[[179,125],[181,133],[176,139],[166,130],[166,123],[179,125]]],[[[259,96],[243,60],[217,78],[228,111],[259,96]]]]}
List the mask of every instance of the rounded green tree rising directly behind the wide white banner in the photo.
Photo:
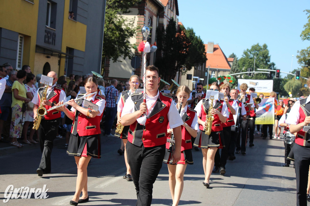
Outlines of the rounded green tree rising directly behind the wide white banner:
{"type": "MultiPolygon", "coordinates": [[[[255,58],[255,71],[257,69],[271,69],[275,70],[275,63],[270,62],[270,55],[268,46],[263,44],[262,46],[258,43],[251,46],[251,49],[246,49],[243,51],[242,57],[239,59],[239,68],[241,72],[246,72],[250,69],[253,71],[254,68],[254,56],[255,58]]],[[[271,72],[270,75],[266,73],[250,73],[250,75],[242,75],[243,79],[272,79],[274,72],[271,72]]]]}

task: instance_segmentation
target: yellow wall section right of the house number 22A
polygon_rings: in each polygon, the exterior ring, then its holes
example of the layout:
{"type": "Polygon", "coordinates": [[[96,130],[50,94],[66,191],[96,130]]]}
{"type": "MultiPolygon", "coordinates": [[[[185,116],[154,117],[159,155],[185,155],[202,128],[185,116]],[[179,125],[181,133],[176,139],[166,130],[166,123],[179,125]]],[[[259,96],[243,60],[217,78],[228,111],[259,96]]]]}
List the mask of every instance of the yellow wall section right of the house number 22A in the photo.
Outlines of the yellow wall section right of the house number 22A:
{"type": "MultiPolygon", "coordinates": [[[[86,44],[86,29],[87,26],[81,22],[73,21],[68,18],[69,3],[67,0],[64,3],[64,25],[62,34],[61,51],[66,52],[66,48],[70,47],[85,52],[86,44]]],[[[60,74],[64,74],[65,59],[60,59],[60,74]]]]}

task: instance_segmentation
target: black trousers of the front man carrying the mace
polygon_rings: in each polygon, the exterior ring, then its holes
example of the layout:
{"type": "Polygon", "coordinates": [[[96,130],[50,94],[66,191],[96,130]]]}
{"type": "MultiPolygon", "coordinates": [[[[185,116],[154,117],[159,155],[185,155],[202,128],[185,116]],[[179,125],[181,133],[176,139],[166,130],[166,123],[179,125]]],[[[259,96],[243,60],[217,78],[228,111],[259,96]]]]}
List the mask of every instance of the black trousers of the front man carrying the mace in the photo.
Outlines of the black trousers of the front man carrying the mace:
{"type": "Polygon", "coordinates": [[[136,205],[151,205],[153,184],[162,168],[165,150],[165,144],[155,147],[137,147],[127,142],[127,161],[137,192],[136,205]]]}

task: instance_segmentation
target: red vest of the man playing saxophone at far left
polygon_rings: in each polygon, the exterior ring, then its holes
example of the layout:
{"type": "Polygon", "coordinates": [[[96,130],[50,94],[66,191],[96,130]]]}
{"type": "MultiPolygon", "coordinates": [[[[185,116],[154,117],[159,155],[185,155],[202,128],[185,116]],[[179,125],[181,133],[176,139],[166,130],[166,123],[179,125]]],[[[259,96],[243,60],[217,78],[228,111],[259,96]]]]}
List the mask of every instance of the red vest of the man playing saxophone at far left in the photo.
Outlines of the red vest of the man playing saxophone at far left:
{"type": "MultiPolygon", "coordinates": [[[[44,87],[40,87],[38,90],[39,105],[40,105],[40,101],[42,98],[43,90],[44,90],[44,87]]],[[[50,94],[46,97],[46,99],[54,104],[58,104],[61,90],[62,90],[61,87],[55,86],[53,91],[50,92],[50,94]]],[[[52,106],[47,106],[47,105],[45,106],[46,110],[50,109],[51,107],[52,106]]],[[[46,120],[57,119],[57,118],[60,118],[60,116],[61,116],[60,111],[53,109],[47,112],[47,115],[44,116],[44,119],[46,120]]]]}

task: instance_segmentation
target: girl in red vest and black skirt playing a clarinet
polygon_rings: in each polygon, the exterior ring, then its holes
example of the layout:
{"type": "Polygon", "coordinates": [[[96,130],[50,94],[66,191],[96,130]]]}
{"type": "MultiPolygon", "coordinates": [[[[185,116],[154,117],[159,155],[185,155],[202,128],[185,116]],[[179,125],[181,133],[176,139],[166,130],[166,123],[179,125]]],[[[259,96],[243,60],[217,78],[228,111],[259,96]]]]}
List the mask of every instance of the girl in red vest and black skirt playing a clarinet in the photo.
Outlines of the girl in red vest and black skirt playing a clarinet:
{"type": "MultiPolygon", "coordinates": [[[[180,117],[183,120],[182,128],[182,144],[181,144],[181,159],[177,165],[172,165],[171,152],[169,152],[170,143],[166,143],[166,154],[164,157],[164,163],[168,164],[169,171],[169,188],[172,197],[172,205],[178,205],[183,187],[184,187],[184,172],[187,164],[193,165],[192,156],[192,144],[191,137],[196,137],[199,131],[198,118],[196,111],[187,107],[186,102],[191,92],[188,86],[180,86],[176,92],[178,97],[177,109],[180,111],[180,117]],[[180,107],[180,103],[182,106],[180,107]]],[[[172,129],[168,129],[168,133],[172,132],[172,129]]],[[[170,139],[170,136],[168,137],[170,139]]]]}

